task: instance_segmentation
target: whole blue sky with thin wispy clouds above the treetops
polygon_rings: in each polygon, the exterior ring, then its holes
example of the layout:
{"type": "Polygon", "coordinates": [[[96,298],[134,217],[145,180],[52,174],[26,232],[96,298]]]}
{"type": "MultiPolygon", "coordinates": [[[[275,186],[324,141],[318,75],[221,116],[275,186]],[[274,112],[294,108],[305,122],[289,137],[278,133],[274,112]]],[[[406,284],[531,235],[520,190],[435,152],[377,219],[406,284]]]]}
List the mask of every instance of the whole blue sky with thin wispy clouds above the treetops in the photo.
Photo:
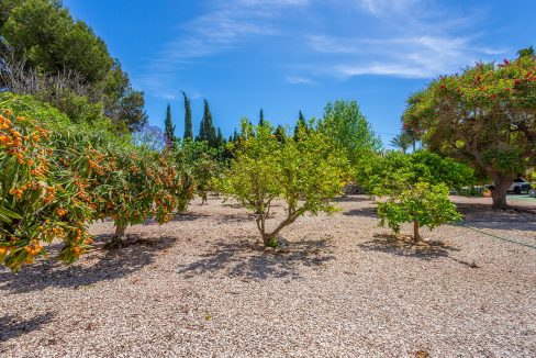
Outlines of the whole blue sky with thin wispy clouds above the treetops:
{"type": "Polygon", "coordinates": [[[169,102],[183,133],[180,91],[202,99],[231,135],[259,109],[293,125],[355,99],[384,144],[407,96],[477,60],[536,45],[534,0],[65,0],[145,92],[149,122],[169,102]]]}

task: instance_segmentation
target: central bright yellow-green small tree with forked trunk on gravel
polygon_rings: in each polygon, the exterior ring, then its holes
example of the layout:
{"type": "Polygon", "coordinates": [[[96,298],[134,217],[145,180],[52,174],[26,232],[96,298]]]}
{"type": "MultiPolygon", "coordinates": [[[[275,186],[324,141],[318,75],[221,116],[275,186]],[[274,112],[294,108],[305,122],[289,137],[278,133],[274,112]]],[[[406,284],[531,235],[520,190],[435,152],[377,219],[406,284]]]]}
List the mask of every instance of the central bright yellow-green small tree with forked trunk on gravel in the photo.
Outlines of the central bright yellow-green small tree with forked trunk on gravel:
{"type": "Polygon", "coordinates": [[[348,164],[321,132],[300,130],[297,141],[286,134],[282,142],[272,132],[267,122],[254,128],[243,121],[239,145],[219,187],[256,214],[264,245],[277,247],[281,230],[301,215],[336,210],[330,200],[340,192],[348,164]],[[268,227],[275,200],[284,202],[286,216],[268,227]]]}

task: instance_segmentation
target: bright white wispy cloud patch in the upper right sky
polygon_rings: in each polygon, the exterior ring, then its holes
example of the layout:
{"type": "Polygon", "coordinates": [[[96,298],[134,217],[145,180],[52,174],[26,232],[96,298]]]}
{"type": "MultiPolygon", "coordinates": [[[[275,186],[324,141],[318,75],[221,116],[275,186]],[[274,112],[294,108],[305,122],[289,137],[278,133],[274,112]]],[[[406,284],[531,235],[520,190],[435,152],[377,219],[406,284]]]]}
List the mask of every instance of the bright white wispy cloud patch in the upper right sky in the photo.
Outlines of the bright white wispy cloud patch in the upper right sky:
{"type": "Polygon", "coordinates": [[[480,46],[479,34],[459,31],[470,29],[478,19],[429,10],[431,1],[360,0],[359,4],[378,34],[309,36],[310,48],[324,54],[324,72],[433,78],[509,51],[480,46]]]}

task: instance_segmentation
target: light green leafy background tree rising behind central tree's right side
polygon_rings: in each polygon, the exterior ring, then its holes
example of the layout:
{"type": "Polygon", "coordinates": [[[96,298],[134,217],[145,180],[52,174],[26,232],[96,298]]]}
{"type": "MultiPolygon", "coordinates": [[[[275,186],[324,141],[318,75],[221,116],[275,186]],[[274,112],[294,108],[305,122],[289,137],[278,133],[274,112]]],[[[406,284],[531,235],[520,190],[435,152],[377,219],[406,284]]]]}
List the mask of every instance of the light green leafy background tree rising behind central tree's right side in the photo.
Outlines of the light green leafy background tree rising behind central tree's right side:
{"type": "Polygon", "coordinates": [[[346,150],[353,166],[382,147],[381,139],[370,127],[356,101],[327,103],[319,130],[346,150]]]}

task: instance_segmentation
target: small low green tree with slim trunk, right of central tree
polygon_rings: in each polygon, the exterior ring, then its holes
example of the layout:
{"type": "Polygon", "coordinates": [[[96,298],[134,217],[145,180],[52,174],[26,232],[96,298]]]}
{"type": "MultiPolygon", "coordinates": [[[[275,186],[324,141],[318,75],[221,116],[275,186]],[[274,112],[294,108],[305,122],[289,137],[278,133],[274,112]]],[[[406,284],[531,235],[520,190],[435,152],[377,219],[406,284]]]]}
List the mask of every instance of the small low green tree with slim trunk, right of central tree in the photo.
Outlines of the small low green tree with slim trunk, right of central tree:
{"type": "Polygon", "coordinates": [[[371,158],[358,177],[373,195],[388,197],[378,202],[380,225],[387,222],[399,234],[402,223],[413,223],[413,239],[418,242],[421,226],[433,230],[460,220],[448,193],[470,182],[472,170],[428,152],[392,152],[371,158]]]}

